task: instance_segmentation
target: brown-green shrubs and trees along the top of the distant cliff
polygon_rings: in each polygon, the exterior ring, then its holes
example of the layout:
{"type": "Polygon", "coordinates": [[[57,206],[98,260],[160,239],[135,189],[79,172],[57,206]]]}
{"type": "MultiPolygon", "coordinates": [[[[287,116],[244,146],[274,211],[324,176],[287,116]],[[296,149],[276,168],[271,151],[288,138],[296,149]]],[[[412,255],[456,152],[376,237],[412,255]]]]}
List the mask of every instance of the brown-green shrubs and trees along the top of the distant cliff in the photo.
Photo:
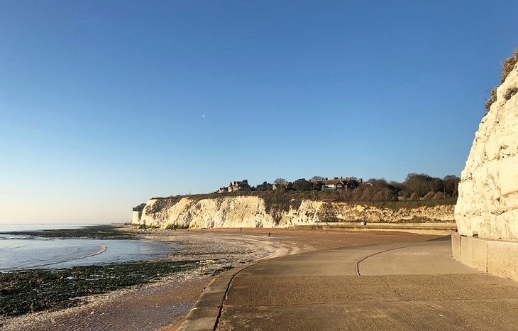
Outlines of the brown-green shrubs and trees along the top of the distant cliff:
{"type": "MultiPolygon", "coordinates": [[[[228,196],[256,196],[265,202],[268,210],[271,208],[289,210],[290,207],[299,207],[302,200],[336,201],[336,202],[362,202],[378,207],[388,207],[397,210],[402,207],[433,207],[435,205],[455,205],[457,187],[460,178],[455,175],[447,175],[444,178],[434,178],[424,173],[409,173],[403,183],[395,181],[387,182],[384,178],[371,178],[364,180],[361,185],[353,190],[321,190],[318,180],[305,180],[299,178],[291,185],[280,186],[272,190],[272,184],[261,183],[250,187],[250,190],[241,190],[228,193],[209,193],[197,195],[175,195],[170,197],[153,197],[159,200],[153,205],[157,212],[163,207],[175,205],[183,197],[191,200],[221,199],[228,196]]],[[[133,208],[134,211],[142,211],[145,204],[133,208]]]]}

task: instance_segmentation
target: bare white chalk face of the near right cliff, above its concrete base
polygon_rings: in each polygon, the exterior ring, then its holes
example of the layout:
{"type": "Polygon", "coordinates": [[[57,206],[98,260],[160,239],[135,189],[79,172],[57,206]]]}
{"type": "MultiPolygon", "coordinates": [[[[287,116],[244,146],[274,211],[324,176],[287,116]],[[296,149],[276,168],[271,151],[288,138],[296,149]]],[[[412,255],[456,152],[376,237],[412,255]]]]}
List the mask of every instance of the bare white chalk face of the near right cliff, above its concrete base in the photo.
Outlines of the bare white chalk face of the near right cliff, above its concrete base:
{"type": "Polygon", "coordinates": [[[518,241],[518,66],[497,88],[458,186],[459,234],[518,241]]]}

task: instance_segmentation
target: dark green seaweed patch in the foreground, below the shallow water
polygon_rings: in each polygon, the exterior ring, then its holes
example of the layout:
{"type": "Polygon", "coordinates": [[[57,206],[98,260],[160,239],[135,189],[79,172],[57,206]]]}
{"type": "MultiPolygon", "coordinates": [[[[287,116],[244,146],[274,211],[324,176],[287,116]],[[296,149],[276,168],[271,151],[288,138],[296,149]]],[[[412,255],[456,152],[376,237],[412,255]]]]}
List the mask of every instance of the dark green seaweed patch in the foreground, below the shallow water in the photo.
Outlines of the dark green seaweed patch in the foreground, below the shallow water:
{"type": "Polygon", "coordinates": [[[86,295],[149,283],[198,265],[199,261],[143,261],[0,273],[0,316],[69,308],[86,295]]]}

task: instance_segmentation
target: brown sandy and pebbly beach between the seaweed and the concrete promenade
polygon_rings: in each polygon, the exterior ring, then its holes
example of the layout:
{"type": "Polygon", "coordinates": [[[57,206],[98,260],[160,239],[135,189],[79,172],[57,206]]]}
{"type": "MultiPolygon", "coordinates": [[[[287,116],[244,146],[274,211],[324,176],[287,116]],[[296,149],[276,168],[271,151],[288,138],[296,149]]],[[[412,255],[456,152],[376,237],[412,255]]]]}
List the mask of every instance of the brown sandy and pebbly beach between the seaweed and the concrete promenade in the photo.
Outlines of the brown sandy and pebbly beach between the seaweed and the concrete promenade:
{"type": "MultiPolygon", "coordinates": [[[[135,227],[122,227],[135,231],[135,227]]],[[[138,237],[174,242],[167,261],[199,260],[197,268],[104,295],[65,310],[1,321],[2,330],[176,330],[204,287],[221,271],[258,259],[365,244],[414,242],[434,235],[305,229],[138,230],[138,237]]]]}

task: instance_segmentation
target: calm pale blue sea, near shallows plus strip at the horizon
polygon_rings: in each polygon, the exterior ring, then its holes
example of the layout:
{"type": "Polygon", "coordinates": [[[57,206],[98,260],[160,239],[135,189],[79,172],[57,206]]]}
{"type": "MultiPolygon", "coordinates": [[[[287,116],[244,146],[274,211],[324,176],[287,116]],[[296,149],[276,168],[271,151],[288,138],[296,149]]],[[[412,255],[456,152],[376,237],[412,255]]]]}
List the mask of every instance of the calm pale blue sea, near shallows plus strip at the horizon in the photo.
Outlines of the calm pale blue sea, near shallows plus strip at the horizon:
{"type": "MultiPolygon", "coordinates": [[[[0,232],[77,229],[85,226],[0,224],[0,232]]],[[[16,233],[0,234],[0,272],[143,261],[174,251],[174,244],[143,239],[56,239],[16,233]]]]}

